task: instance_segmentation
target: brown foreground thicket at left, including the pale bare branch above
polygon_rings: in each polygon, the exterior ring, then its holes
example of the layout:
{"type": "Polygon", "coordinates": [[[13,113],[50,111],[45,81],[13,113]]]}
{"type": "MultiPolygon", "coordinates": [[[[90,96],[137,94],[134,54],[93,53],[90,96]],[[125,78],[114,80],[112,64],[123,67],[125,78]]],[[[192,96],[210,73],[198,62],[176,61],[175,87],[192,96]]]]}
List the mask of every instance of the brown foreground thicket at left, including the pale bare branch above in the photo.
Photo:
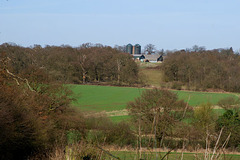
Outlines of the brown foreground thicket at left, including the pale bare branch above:
{"type": "Polygon", "coordinates": [[[7,60],[0,58],[0,159],[27,159],[51,151],[56,142],[66,144],[70,129],[84,134],[84,122],[69,107],[66,88],[43,84],[36,77],[29,82],[9,71],[7,60]]]}

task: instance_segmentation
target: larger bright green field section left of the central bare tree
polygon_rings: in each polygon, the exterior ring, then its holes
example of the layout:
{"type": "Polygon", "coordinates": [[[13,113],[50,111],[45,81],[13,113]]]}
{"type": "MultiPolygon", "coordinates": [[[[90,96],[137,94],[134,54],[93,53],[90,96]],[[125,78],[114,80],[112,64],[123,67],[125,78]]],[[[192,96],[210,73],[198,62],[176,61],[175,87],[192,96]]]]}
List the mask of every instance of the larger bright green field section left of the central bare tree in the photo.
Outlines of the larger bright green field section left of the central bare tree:
{"type": "Polygon", "coordinates": [[[140,96],[144,89],[93,86],[93,85],[70,85],[76,102],[73,105],[83,111],[113,111],[123,110],[129,101],[140,96]]]}

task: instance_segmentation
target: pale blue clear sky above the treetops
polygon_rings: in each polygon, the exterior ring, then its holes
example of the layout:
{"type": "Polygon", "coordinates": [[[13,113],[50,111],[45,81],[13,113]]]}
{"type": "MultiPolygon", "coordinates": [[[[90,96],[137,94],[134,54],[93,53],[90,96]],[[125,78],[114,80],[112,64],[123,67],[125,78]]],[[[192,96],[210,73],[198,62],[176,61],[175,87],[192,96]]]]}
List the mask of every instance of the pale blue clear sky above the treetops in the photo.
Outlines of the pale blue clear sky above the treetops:
{"type": "Polygon", "coordinates": [[[240,49],[240,0],[0,0],[0,44],[240,49]]]}

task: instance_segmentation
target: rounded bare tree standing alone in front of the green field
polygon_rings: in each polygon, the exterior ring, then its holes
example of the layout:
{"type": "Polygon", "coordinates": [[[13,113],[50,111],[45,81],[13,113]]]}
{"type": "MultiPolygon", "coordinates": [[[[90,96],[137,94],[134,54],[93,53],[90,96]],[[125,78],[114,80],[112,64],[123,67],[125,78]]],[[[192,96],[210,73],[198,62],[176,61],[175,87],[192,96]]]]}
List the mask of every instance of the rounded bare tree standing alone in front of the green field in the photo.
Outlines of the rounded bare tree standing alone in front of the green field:
{"type": "Polygon", "coordinates": [[[183,114],[185,106],[183,101],[177,100],[176,94],[152,89],[144,91],[141,97],[130,102],[127,108],[137,127],[141,121],[141,134],[150,134],[154,130],[156,147],[161,147],[164,137],[171,134],[171,129],[178,122],[177,117],[183,114]]]}

